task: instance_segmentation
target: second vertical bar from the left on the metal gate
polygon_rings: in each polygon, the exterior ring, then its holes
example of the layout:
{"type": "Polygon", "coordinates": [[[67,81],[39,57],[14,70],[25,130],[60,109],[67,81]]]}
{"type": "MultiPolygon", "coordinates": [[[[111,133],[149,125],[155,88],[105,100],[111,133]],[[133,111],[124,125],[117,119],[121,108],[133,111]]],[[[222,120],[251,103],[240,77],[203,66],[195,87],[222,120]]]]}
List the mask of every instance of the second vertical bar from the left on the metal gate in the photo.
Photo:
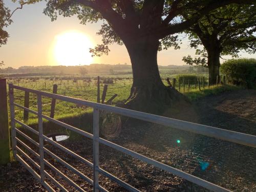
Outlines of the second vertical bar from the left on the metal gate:
{"type": "Polygon", "coordinates": [[[41,184],[45,182],[45,163],[44,163],[44,138],[42,127],[42,96],[37,95],[37,117],[38,117],[38,133],[39,133],[39,155],[40,155],[40,175],[41,184]]]}

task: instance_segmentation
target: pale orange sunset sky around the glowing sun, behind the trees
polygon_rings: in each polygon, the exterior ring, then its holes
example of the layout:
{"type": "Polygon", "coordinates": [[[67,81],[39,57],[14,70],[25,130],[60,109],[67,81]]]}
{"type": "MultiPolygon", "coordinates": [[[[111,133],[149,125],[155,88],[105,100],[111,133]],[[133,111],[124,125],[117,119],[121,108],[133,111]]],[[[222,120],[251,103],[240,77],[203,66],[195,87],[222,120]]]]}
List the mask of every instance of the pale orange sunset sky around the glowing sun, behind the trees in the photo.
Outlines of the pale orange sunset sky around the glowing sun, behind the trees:
{"type": "MultiPolygon", "coordinates": [[[[4,0],[4,3],[11,10],[19,7],[11,0],[4,0]]],[[[23,9],[19,9],[13,14],[13,23],[6,29],[10,35],[7,45],[0,48],[0,60],[4,60],[5,67],[75,65],[75,63],[81,65],[90,63],[131,64],[125,46],[111,45],[109,55],[90,57],[89,47],[93,48],[95,45],[101,44],[101,36],[96,35],[96,32],[100,29],[102,22],[81,25],[75,16],[58,16],[57,20],[51,22],[50,17],[42,13],[45,7],[45,2],[25,5],[23,9]],[[74,36],[71,37],[72,34],[76,34],[76,37],[81,37],[84,41],[78,42],[79,45],[74,45],[73,42],[76,42],[76,39],[73,38],[74,36]],[[76,48],[81,46],[81,49],[75,52],[72,46],[76,48]],[[73,57],[66,58],[66,53],[70,51],[74,52],[72,56],[76,58],[74,59],[75,63],[69,61],[73,57]]],[[[182,57],[188,54],[193,56],[195,53],[195,50],[190,49],[188,45],[188,39],[184,38],[180,46],[181,49],[170,48],[160,51],[158,65],[185,65],[182,57]]],[[[241,57],[256,58],[255,55],[247,53],[241,53],[241,57]]],[[[225,56],[224,58],[230,57],[225,56]]]]}

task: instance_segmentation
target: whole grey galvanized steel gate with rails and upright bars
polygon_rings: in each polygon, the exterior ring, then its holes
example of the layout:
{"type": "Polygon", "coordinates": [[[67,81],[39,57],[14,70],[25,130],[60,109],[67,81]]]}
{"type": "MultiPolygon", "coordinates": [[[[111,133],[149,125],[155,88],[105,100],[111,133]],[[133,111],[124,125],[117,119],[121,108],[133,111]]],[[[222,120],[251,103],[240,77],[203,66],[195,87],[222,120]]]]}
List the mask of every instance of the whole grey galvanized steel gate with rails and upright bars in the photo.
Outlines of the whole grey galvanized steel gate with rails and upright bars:
{"type": "Polygon", "coordinates": [[[104,145],[107,145],[109,147],[114,148],[117,151],[120,151],[122,153],[125,153],[127,155],[130,155],[134,158],[137,158],[143,162],[146,162],[148,164],[154,165],[160,169],[165,170],[166,172],[172,173],[174,175],[177,175],[181,178],[184,178],[190,182],[196,183],[202,187],[205,187],[207,189],[213,190],[213,191],[229,191],[228,189],[225,189],[221,186],[215,185],[213,183],[210,183],[208,181],[205,181],[203,179],[200,179],[198,177],[195,177],[193,175],[187,174],[185,172],[182,172],[179,169],[176,169],[174,167],[165,165],[163,163],[160,163],[154,159],[147,158],[141,154],[138,154],[136,152],[133,152],[131,150],[128,150],[127,148],[124,148],[120,145],[117,145],[113,142],[110,142],[108,140],[102,139],[99,137],[99,110],[100,111],[106,111],[106,112],[112,112],[115,114],[127,116],[127,117],[132,117],[152,123],[157,123],[160,125],[165,125],[165,126],[170,126],[179,130],[183,131],[188,131],[188,132],[193,132],[209,137],[214,137],[217,139],[222,139],[234,143],[239,143],[242,145],[247,145],[251,147],[256,147],[256,136],[253,135],[248,135],[248,134],[243,134],[243,133],[238,133],[238,132],[233,132],[233,131],[228,131],[228,130],[223,130],[219,129],[216,127],[211,127],[211,126],[206,126],[206,125],[201,125],[201,124],[196,124],[196,123],[190,123],[186,121],[181,121],[177,119],[172,119],[172,118],[166,118],[166,117],[161,117],[157,115],[152,115],[152,114],[147,114],[147,113],[142,113],[142,112],[137,112],[137,111],[132,111],[132,110],[127,110],[127,109],[122,109],[122,108],[117,108],[115,106],[110,106],[110,105],[105,105],[105,104],[100,104],[100,103],[95,103],[95,102],[90,102],[86,100],[81,100],[81,99],[76,99],[76,98],[71,98],[67,96],[62,96],[62,95],[57,95],[57,94],[52,94],[52,93],[46,93],[42,91],[37,91],[37,90],[32,90],[32,89],[27,89],[23,87],[18,87],[14,86],[13,84],[9,84],[9,96],[10,96],[10,110],[11,110],[11,127],[12,127],[12,149],[13,149],[13,155],[14,157],[22,163],[28,170],[29,172],[42,184],[44,185],[47,190],[49,191],[55,191],[45,180],[45,178],[49,178],[56,186],[58,186],[61,190],[63,191],[68,191],[64,186],[62,186],[57,180],[55,180],[49,173],[46,172],[45,170],[45,165],[47,165],[49,168],[54,170],[61,178],[65,179],[70,185],[75,187],[79,191],[84,191],[79,185],[77,185],[75,182],[73,182],[71,179],[69,179],[65,174],[61,173],[56,167],[54,167],[50,162],[48,162],[44,158],[44,154],[47,153],[54,159],[56,159],[58,162],[60,162],[62,165],[66,166],[70,170],[72,170],[75,174],[80,176],[82,179],[86,180],[90,184],[93,185],[93,190],[94,191],[108,191],[102,186],[99,185],[99,173],[110,178],[111,180],[117,182],[119,185],[122,187],[126,188],[129,191],[139,191],[138,189],[134,188],[133,186],[125,183],[124,181],[118,179],[117,177],[111,175],[110,173],[106,172],[102,168],[99,167],[99,143],[102,143],[104,145]],[[30,93],[34,93],[37,95],[37,112],[32,111],[31,109],[25,108],[22,105],[19,105],[14,102],[14,90],[22,90],[30,93]],[[72,102],[76,103],[79,105],[85,105],[93,108],[93,134],[90,134],[88,132],[84,132],[82,130],[77,129],[74,126],[68,125],[66,123],[63,123],[61,121],[58,121],[56,119],[50,118],[46,115],[42,114],[42,103],[41,103],[41,97],[49,97],[49,98],[55,98],[59,99],[62,101],[67,101],[67,102],[72,102]],[[30,126],[24,124],[23,122],[20,122],[19,120],[15,119],[15,112],[14,112],[14,106],[24,109],[30,113],[33,113],[38,116],[38,132],[34,129],[32,129],[30,126]],[[68,148],[60,145],[59,143],[51,140],[47,136],[43,134],[43,126],[42,126],[42,119],[45,118],[51,122],[54,122],[58,125],[61,125],[63,127],[66,127],[67,129],[74,131],[78,134],[83,135],[84,137],[93,139],[93,163],[84,159],[83,157],[75,154],[74,152],[68,150],[68,148]],[[25,127],[27,130],[31,131],[32,133],[36,134],[39,136],[39,143],[34,141],[32,138],[30,138],[28,135],[23,133],[22,131],[18,130],[15,127],[15,124],[18,123],[25,127]],[[29,147],[27,144],[25,144],[22,140],[17,138],[16,133],[19,135],[23,136],[27,140],[29,140],[31,143],[33,143],[35,146],[39,147],[39,154],[36,153],[35,151],[32,150],[31,147],[29,147]],[[74,158],[80,160],[83,163],[86,163],[90,167],[93,168],[93,180],[91,180],[89,177],[85,176],[79,170],[56,156],[54,153],[50,152],[47,148],[44,147],[44,140],[48,141],[52,145],[58,147],[60,150],[66,152],[67,154],[73,156],[74,158]],[[26,148],[31,154],[33,154],[35,157],[39,159],[39,164],[37,164],[29,155],[27,155],[21,148],[17,146],[17,142],[22,145],[23,147],[26,148]],[[35,170],[28,164],[26,161],[17,154],[19,152],[22,154],[26,159],[32,163],[36,168],[40,170],[40,175],[35,172],[35,170]]]}

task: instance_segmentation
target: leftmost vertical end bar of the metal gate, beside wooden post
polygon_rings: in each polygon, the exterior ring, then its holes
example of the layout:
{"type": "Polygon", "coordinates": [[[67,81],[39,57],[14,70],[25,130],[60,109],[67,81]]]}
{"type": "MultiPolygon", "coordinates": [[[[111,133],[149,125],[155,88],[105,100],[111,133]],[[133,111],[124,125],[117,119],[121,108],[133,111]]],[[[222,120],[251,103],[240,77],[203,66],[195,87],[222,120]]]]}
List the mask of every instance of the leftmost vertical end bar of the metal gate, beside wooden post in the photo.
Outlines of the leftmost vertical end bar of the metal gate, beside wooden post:
{"type": "Polygon", "coordinates": [[[15,111],[14,111],[14,93],[13,93],[13,88],[12,84],[9,84],[9,99],[10,99],[10,112],[11,112],[11,131],[12,131],[12,154],[13,157],[16,158],[17,150],[16,150],[16,131],[15,131],[15,111]]]}

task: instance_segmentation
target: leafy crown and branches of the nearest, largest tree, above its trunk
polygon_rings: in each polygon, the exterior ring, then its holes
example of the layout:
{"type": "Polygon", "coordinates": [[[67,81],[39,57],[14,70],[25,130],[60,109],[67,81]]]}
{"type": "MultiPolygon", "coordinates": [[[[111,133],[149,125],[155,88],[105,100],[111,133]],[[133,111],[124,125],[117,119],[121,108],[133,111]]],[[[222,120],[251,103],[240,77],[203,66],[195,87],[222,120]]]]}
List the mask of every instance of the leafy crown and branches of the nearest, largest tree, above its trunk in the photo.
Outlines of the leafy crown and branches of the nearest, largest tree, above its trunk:
{"type": "MultiPolygon", "coordinates": [[[[17,0],[12,1],[17,2],[17,0]]],[[[33,4],[39,1],[19,0],[24,4],[33,4]]],[[[253,0],[247,0],[247,2],[250,3],[253,0]]],[[[131,39],[135,40],[145,36],[159,39],[159,50],[169,47],[178,49],[180,39],[174,34],[195,24],[204,14],[230,3],[240,4],[241,1],[54,0],[47,1],[44,13],[52,21],[57,19],[57,15],[65,17],[76,15],[80,23],[84,25],[103,20],[104,23],[97,33],[102,36],[102,44],[90,50],[92,55],[101,56],[109,53],[108,46],[111,44],[122,45],[131,39]],[[181,15],[187,12],[190,17],[184,19],[181,15]]]]}

